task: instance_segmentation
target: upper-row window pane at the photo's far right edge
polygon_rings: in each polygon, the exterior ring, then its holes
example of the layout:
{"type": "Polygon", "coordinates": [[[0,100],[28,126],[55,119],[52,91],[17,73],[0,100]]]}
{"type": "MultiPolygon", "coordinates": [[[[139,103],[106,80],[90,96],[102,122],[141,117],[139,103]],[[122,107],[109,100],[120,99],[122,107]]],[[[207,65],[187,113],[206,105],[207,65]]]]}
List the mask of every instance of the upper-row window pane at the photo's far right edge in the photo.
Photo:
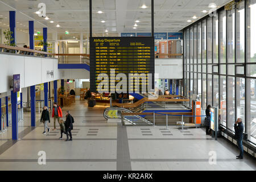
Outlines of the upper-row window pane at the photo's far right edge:
{"type": "Polygon", "coordinates": [[[247,61],[256,62],[256,0],[247,0],[247,61]]]}

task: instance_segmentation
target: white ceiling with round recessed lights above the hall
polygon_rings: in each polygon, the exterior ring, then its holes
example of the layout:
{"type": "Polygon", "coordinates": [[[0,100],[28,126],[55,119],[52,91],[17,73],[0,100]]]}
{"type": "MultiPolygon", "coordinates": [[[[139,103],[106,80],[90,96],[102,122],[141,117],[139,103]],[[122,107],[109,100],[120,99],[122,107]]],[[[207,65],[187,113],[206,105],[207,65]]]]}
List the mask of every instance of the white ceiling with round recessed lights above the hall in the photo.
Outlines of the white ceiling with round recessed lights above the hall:
{"type": "MultiPolygon", "coordinates": [[[[209,10],[209,3],[216,3],[218,7],[230,0],[155,0],[155,32],[175,32],[190,24],[188,19],[196,15],[203,17],[209,10]]],[[[118,35],[119,32],[151,32],[151,0],[92,0],[93,32],[94,36],[118,35]],[[140,6],[148,6],[142,9],[140,6]],[[104,13],[98,14],[101,10],[104,13]],[[101,23],[105,20],[105,23],[101,23]],[[137,29],[133,29],[134,21],[137,29]],[[95,34],[97,33],[97,34],[95,34]]],[[[48,27],[49,32],[64,34],[69,31],[70,36],[84,36],[89,32],[89,0],[1,0],[0,1],[0,27],[9,26],[9,11],[16,11],[16,26],[20,30],[28,31],[28,20],[35,20],[35,29],[48,27]],[[38,4],[46,3],[46,12],[49,20],[35,14],[39,10],[38,4]],[[1,16],[2,15],[2,16],[1,16]],[[55,23],[49,23],[53,20],[55,23]],[[3,25],[6,24],[6,25],[3,25]],[[60,24],[57,28],[56,24],[60,24]]],[[[191,22],[192,23],[192,22],[191,22]]]]}

